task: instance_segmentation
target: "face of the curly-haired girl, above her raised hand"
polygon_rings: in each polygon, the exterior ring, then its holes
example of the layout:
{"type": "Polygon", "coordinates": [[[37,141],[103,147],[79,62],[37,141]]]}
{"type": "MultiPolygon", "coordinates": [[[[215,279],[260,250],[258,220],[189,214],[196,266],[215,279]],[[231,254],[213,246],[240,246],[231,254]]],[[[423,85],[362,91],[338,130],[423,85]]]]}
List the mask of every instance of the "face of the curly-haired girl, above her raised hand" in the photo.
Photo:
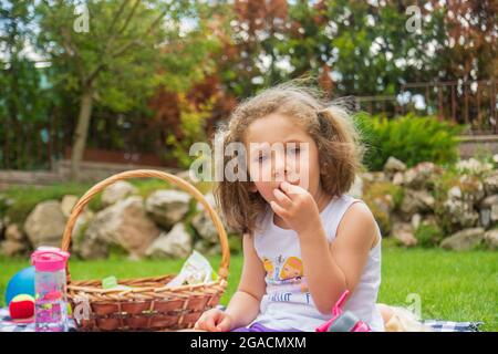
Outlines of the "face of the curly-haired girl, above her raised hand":
{"type": "Polygon", "coordinates": [[[322,192],[317,144],[297,121],[269,114],[252,122],[246,133],[248,169],[264,200],[276,200],[273,189],[287,180],[307,189],[315,200],[322,192]]]}

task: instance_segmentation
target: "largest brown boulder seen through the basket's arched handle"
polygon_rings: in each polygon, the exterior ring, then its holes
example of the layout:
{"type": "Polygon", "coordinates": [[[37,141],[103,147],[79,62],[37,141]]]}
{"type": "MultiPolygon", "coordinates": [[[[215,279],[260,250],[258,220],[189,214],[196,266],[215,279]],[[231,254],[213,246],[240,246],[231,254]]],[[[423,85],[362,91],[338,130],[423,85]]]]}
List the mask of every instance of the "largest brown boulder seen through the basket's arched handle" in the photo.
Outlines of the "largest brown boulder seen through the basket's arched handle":
{"type": "Polygon", "coordinates": [[[159,236],[147,218],[143,198],[127,197],[96,214],[80,247],[84,259],[106,257],[110,244],[117,244],[132,258],[141,258],[159,236]]]}

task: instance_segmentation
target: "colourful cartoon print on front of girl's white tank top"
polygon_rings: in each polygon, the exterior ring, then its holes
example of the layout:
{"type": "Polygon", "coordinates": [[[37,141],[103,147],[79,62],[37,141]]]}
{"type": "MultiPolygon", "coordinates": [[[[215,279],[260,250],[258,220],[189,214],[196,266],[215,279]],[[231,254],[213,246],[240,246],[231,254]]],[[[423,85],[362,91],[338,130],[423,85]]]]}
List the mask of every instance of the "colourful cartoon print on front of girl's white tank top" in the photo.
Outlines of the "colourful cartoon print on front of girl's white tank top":
{"type": "Polygon", "coordinates": [[[267,271],[267,292],[270,301],[310,303],[304,267],[299,257],[284,258],[280,254],[272,261],[263,256],[261,260],[267,271]]]}

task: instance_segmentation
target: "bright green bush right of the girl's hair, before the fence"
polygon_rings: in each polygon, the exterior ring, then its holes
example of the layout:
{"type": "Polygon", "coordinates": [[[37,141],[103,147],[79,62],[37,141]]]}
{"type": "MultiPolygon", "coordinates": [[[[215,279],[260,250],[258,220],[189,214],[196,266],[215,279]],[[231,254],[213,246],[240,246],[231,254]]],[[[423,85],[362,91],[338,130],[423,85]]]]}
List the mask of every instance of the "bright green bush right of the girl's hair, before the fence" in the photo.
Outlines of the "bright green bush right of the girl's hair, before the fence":
{"type": "Polygon", "coordinates": [[[366,147],[363,163],[370,170],[381,170],[390,156],[408,167],[422,162],[455,163],[458,158],[457,135],[465,128],[433,116],[413,114],[387,119],[362,113],[355,116],[355,124],[366,147]]]}

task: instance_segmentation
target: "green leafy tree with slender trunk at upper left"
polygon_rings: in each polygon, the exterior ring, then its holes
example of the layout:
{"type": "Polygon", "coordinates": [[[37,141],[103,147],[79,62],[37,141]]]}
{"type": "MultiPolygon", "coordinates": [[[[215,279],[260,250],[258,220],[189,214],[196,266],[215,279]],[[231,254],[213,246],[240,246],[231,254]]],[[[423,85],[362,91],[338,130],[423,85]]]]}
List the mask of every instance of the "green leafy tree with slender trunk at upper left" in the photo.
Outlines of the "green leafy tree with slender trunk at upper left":
{"type": "Polygon", "coordinates": [[[95,102],[125,112],[144,105],[159,85],[188,90],[212,66],[206,55],[216,48],[206,25],[212,7],[191,1],[45,0],[37,10],[39,48],[59,69],[54,81],[79,96],[74,179],[95,102]]]}

